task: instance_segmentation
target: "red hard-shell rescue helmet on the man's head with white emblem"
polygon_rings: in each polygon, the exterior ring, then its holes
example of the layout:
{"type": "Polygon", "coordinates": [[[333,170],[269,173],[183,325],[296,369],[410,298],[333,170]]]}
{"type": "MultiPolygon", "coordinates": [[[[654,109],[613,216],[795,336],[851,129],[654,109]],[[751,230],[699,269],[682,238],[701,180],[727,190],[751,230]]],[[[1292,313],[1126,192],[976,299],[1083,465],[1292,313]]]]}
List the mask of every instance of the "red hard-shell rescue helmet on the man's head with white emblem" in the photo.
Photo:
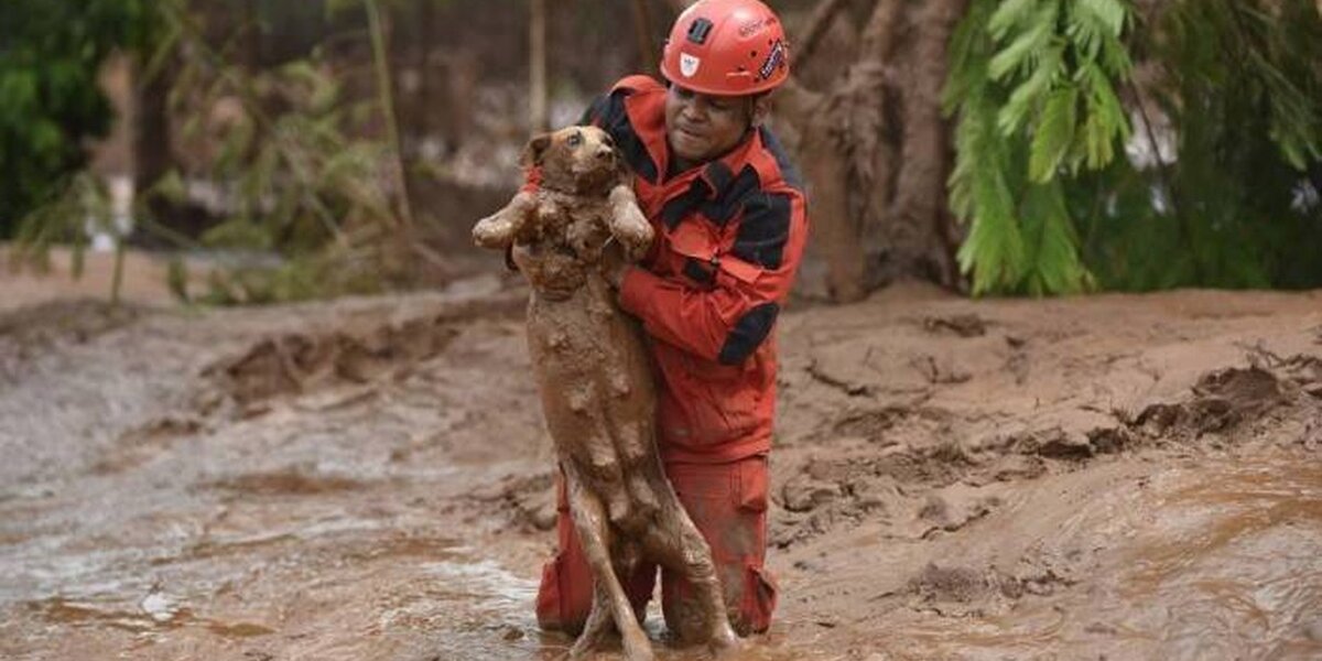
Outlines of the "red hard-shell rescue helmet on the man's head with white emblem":
{"type": "Polygon", "coordinates": [[[661,75],[701,94],[771,90],[789,77],[785,28],[758,0],[698,0],[674,20],[661,75]]]}

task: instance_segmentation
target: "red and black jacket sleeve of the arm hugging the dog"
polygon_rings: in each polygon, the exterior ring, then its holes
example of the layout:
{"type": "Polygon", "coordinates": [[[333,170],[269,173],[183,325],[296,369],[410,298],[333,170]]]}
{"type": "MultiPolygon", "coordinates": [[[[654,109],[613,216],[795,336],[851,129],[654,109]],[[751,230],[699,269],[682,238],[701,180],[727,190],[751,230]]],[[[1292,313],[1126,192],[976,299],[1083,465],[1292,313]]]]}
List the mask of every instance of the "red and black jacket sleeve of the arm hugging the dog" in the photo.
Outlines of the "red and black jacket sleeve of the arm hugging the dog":
{"type": "Polygon", "coordinates": [[[629,268],[620,305],[657,340],[703,360],[743,364],[775,327],[806,235],[801,193],[754,193],[744,202],[734,245],[717,255],[710,290],[629,268]]]}

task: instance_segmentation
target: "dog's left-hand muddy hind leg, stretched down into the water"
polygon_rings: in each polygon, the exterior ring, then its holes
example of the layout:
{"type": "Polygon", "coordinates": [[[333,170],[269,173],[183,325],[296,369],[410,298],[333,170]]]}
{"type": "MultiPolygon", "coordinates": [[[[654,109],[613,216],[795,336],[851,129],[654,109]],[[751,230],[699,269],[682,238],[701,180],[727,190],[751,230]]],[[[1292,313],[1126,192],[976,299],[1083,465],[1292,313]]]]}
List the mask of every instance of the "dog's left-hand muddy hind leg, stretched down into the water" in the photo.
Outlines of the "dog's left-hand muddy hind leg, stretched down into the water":
{"type": "MultiPolygon", "coordinates": [[[[642,627],[639,625],[633,607],[629,604],[629,598],[624,594],[624,587],[620,586],[620,579],[615,575],[609,553],[611,529],[607,524],[605,508],[602,506],[599,498],[583,486],[583,476],[579,475],[578,468],[572,463],[567,464],[564,467],[564,477],[570,492],[570,512],[574,514],[574,526],[579,534],[583,555],[587,557],[588,567],[592,570],[592,579],[596,586],[595,591],[602,592],[605,600],[604,604],[600,604],[594,598],[588,624],[592,624],[591,620],[598,616],[599,611],[609,608],[611,619],[615,620],[615,627],[620,632],[620,640],[624,642],[625,658],[629,661],[650,661],[653,658],[652,645],[648,642],[646,635],[642,633],[642,627]]],[[[590,631],[584,628],[584,633],[590,631]]],[[[595,641],[584,641],[584,644],[591,642],[595,641]]],[[[587,650],[588,648],[579,648],[575,644],[574,649],[571,649],[571,657],[574,654],[583,654],[587,650]]]]}

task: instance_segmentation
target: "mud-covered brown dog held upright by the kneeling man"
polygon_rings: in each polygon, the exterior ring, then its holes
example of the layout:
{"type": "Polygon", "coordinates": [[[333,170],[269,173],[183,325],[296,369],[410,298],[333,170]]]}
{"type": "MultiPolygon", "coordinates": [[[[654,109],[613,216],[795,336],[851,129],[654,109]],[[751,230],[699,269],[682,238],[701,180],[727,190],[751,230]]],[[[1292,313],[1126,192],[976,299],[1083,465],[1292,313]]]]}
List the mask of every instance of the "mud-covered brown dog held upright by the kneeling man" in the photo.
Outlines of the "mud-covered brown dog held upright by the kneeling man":
{"type": "Polygon", "coordinates": [[[685,576],[702,604],[672,629],[718,653],[736,649],[711,550],[661,468],[641,332],[600,275],[603,259],[637,259],[652,242],[629,173],[595,127],[539,135],[524,159],[541,168],[539,189],[479,221],[473,239],[513,249],[531,286],[533,371],[594,575],[592,611],[571,657],[598,649],[613,624],[631,661],[653,658],[619,579],[644,559],[685,576]]]}

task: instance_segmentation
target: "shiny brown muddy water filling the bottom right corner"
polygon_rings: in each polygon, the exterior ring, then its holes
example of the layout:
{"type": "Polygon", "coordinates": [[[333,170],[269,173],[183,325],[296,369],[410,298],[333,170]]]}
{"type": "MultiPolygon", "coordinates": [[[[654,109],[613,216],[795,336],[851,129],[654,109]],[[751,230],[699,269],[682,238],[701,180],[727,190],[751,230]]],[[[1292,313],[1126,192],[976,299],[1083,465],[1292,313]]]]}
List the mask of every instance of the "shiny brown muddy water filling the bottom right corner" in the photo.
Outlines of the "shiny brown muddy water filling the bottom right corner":
{"type": "Polygon", "coordinates": [[[1068,591],[896,637],[957,658],[1322,658],[1315,457],[1204,459],[1099,496],[1062,535],[1114,550],[1068,591]]]}

